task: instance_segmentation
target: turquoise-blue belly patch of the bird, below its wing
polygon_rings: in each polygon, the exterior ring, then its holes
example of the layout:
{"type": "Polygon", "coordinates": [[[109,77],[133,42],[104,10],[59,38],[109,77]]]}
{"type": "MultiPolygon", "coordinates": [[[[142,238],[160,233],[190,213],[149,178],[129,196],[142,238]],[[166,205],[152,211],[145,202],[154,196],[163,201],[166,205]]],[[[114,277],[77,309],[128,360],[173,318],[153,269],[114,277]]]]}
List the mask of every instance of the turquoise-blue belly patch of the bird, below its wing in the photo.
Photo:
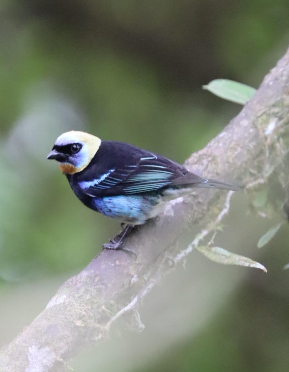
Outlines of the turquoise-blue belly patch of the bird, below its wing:
{"type": "Polygon", "coordinates": [[[128,224],[143,224],[157,202],[157,196],[118,195],[93,198],[92,204],[94,209],[107,217],[117,218],[128,224]]]}

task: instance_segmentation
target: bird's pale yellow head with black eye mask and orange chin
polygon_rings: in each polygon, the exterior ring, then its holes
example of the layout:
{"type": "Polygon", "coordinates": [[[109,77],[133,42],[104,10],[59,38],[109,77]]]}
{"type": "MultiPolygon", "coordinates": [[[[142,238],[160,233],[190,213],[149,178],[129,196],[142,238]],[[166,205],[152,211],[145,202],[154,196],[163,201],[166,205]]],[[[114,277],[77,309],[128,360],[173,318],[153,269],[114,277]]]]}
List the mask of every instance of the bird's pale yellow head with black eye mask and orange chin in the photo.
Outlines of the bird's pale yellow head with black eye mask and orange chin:
{"type": "Polygon", "coordinates": [[[85,132],[70,131],[60,135],[47,159],[58,161],[64,173],[82,171],[99,149],[101,140],[85,132]]]}

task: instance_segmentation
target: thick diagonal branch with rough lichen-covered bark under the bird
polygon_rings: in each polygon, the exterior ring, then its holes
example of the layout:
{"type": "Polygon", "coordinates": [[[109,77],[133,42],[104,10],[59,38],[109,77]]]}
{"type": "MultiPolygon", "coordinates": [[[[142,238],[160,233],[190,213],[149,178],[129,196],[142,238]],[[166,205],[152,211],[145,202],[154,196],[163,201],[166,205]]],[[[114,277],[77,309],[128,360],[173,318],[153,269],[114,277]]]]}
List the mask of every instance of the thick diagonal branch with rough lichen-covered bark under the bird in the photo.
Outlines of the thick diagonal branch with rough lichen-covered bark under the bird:
{"type": "MultiPolygon", "coordinates": [[[[203,150],[185,162],[206,177],[238,179],[253,186],[279,171],[289,148],[289,51],[265,77],[253,99],[203,150]],[[197,166],[196,166],[197,164],[197,166]]],[[[249,187],[250,190],[250,187],[249,187]]],[[[0,371],[66,371],[70,358],[104,337],[110,325],[129,312],[141,327],[141,298],[183,251],[176,243],[194,225],[213,230],[224,210],[223,190],[196,190],[168,204],[164,216],[139,227],[124,251],[103,251],[58,290],[46,309],[0,352],[0,371]]],[[[204,230],[203,230],[204,231],[204,230]]],[[[194,239],[192,233],[191,240],[194,239]]]]}

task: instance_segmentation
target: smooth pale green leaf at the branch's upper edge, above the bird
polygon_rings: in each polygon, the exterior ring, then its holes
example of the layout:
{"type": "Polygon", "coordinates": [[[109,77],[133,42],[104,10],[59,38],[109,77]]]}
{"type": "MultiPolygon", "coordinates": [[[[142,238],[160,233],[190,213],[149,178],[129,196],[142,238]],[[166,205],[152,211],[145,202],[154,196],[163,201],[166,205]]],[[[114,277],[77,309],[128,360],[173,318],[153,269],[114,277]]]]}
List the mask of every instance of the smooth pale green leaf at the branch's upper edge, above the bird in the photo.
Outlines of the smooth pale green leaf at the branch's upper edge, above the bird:
{"type": "Polygon", "coordinates": [[[256,89],[228,79],[216,79],[203,85],[203,89],[231,102],[244,105],[253,97],[256,89]]]}

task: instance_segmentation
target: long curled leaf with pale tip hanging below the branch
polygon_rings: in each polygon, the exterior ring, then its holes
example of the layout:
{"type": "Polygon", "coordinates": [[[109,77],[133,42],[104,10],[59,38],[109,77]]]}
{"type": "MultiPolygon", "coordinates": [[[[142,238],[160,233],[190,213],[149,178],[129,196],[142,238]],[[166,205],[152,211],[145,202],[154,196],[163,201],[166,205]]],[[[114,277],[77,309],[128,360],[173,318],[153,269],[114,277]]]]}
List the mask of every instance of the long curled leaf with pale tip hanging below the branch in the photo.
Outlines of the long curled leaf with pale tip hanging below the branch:
{"type": "Polygon", "coordinates": [[[201,246],[197,247],[197,249],[214,262],[223,263],[225,265],[256,267],[257,269],[265,271],[265,273],[267,272],[266,267],[259,262],[244,256],[239,256],[239,254],[231,253],[224,248],[201,246]]]}

